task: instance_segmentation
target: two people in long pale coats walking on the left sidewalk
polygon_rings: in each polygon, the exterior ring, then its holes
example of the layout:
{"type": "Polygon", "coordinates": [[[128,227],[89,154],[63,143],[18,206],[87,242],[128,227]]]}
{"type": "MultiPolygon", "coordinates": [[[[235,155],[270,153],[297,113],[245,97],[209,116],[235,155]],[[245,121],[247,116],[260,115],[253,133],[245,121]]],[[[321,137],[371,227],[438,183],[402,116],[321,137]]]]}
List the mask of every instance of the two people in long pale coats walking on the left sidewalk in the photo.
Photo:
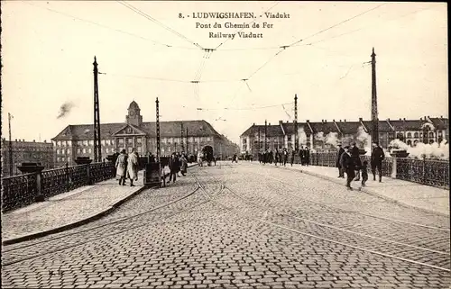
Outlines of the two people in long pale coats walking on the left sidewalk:
{"type": "Polygon", "coordinates": [[[128,155],[125,149],[121,153],[115,152],[113,155],[113,163],[115,164],[116,179],[119,180],[119,185],[125,185],[125,180],[130,179],[130,186],[133,181],[138,180],[139,156],[136,149],[132,149],[128,155]]]}

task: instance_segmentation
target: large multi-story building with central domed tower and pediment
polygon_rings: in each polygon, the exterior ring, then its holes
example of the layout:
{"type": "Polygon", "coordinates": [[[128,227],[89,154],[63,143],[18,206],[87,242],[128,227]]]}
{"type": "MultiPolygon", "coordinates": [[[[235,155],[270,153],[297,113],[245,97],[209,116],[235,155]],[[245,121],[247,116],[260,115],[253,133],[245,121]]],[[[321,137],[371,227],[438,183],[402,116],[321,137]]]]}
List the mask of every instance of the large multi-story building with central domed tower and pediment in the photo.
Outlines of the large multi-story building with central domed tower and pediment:
{"type": "MultiPolygon", "coordinates": [[[[196,153],[207,146],[222,158],[238,152],[237,145],[206,121],[160,122],[160,137],[162,156],[179,151],[196,153]]],[[[134,148],[139,155],[148,152],[155,155],[157,151],[156,122],[143,122],[141,109],[134,101],[128,107],[125,122],[100,124],[100,138],[102,158],[122,149],[131,151],[134,148]]],[[[68,125],[52,141],[57,167],[66,163],[73,165],[77,157],[94,158],[92,124],[68,125]]]]}

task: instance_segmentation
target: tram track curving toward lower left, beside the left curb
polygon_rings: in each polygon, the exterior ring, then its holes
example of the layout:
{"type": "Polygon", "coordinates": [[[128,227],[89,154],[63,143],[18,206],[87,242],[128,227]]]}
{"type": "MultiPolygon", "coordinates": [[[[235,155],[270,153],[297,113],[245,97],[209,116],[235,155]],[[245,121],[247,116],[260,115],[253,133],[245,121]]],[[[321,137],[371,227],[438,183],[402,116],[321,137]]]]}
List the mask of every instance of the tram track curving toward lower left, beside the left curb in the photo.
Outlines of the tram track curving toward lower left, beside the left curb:
{"type": "Polygon", "coordinates": [[[202,205],[204,203],[208,203],[210,201],[207,199],[207,201],[197,202],[197,203],[194,203],[192,205],[188,205],[188,206],[184,205],[183,209],[181,209],[181,210],[179,210],[177,212],[169,212],[169,213],[168,212],[164,212],[163,214],[165,214],[165,215],[163,217],[161,217],[161,218],[156,218],[155,220],[152,220],[152,221],[143,220],[143,222],[140,223],[139,225],[134,225],[134,226],[132,225],[132,226],[130,226],[131,224],[133,224],[133,221],[135,221],[136,218],[153,214],[153,213],[157,212],[158,210],[170,207],[170,205],[183,202],[184,200],[188,200],[189,197],[195,195],[198,192],[198,190],[199,190],[199,186],[196,185],[196,188],[194,190],[192,190],[189,194],[185,194],[185,195],[179,197],[178,199],[176,199],[174,201],[171,201],[169,203],[164,203],[164,204],[162,204],[160,206],[157,206],[157,207],[154,207],[154,208],[152,208],[150,210],[146,210],[145,212],[140,212],[138,214],[134,214],[133,216],[128,216],[128,217],[125,217],[125,218],[120,219],[120,220],[107,222],[105,224],[101,224],[101,225],[98,225],[96,227],[88,228],[88,229],[85,229],[85,230],[78,230],[76,232],[72,232],[72,233],[69,233],[69,234],[64,234],[64,235],[58,236],[56,238],[45,239],[45,240],[41,240],[39,242],[33,242],[32,244],[27,244],[25,246],[5,249],[5,250],[2,251],[2,255],[3,255],[2,263],[3,263],[3,266],[11,266],[11,265],[13,265],[15,263],[19,263],[19,262],[22,262],[22,261],[25,261],[25,260],[36,258],[36,257],[41,257],[41,256],[44,256],[44,255],[48,255],[48,254],[51,254],[51,253],[62,251],[62,250],[68,249],[68,248],[75,248],[75,247],[78,247],[78,246],[81,246],[81,245],[84,245],[84,244],[87,244],[89,242],[93,242],[93,241],[96,241],[96,240],[99,240],[99,239],[106,239],[106,238],[109,238],[109,237],[115,237],[115,236],[117,236],[119,234],[123,234],[124,232],[127,232],[129,230],[135,230],[135,229],[139,229],[139,228],[141,228],[143,226],[149,225],[149,223],[158,222],[158,221],[164,221],[164,220],[167,220],[167,219],[169,219],[169,218],[171,218],[171,217],[173,217],[175,215],[178,215],[180,213],[189,212],[190,210],[192,210],[192,209],[194,209],[194,208],[196,208],[196,207],[198,207],[198,206],[200,206],[200,205],[202,205]],[[108,227],[110,227],[112,225],[115,225],[115,224],[123,224],[124,227],[120,227],[119,230],[114,230],[113,232],[111,232],[111,230],[109,230],[108,227]],[[59,244],[65,243],[65,241],[70,241],[70,239],[68,239],[68,238],[72,238],[74,236],[81,235],[81,234],[91,233],[91,234],[97,235],[96,233],[98,233],[98,231],[96,231],[96,230],[101,230],[101,229],[106,229],[107,233],[103,234],[101,236],[96,236],[94,238],[87,238],[87,239],[84,238],[83,241],[75,241],[72,244],[62,245],[59,248],[57,246],[57,248],[52,248],[51,250],[46,250],[44,252],[41,252],[41,248],[37,248],[39,245],[42,245],[42,244],[47,244],[47,245],[50,246],[51,242],[54,242],[54,241],[58,241],[59,244]],[[66,238],[66,240],[65,240],[65,238],[66,238]],[[29,251],[28,252],[26,251],[27,249],[33,249],[33,248],[36,248],[37,251],[39,251],[39,253],[30,254],[29,251]],[[22,252],[23,254],[20,254],[21,250],[23,250],[25,252],[22,252]],[[11,255],[14,255],[14,253],[16,253],[17,251],[19,251],[19,253],[18,253],[19,257],[11,256],[11,255]]]}

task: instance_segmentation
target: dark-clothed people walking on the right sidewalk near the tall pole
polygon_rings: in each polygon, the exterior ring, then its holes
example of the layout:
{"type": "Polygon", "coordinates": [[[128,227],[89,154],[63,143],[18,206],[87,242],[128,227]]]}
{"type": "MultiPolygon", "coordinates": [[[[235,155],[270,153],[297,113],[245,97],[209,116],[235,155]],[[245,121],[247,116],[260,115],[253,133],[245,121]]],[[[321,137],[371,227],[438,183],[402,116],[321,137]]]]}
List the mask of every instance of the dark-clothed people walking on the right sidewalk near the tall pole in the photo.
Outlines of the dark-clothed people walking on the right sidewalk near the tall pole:
{"type": "MultiPolygon", "coordinates": [[[[357,148],[355,142],[350,146],[342,148],[338,145],[339,149],[336,155],[336,167],[338,167],[338,177],[345,178],[346,174],[346,187],[348,190],[352,190],[351,182],[360,181],[362,176],[362,186],[365,185],[368,180],[368,162],[360,159],[360,149],[357,148]]],[[[371,170],[373,173],[373,181],[376,180],[376,169],[379,173],[379,182],[382,182],[382,160],[385,158],[383,149],[378,143],[373,143],[373,151],[371,154],[371,170]]]]}

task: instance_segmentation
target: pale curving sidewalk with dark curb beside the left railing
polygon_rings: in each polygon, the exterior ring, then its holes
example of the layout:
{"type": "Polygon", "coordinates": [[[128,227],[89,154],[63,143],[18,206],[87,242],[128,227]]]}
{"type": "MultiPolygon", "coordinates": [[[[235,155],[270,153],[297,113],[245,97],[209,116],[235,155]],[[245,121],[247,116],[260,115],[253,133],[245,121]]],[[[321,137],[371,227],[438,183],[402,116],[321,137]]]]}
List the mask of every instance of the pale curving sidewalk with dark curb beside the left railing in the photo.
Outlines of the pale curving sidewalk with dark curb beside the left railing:
{"type": "MultiPolygon", "coordinates": [[[[194,167],[198,164],[189,164],[194,167]]],[[[164,167],[169,173],[169,167],[164,167]]],[[[94,221],[143,191],[143,170],[138,181],[130,186],[119,185],[109,179],[95,185],[85,185],[64,194],[57,194],[45,202],[32,203],[2,214],[2,242],[4,245],[36,239],[69,230],[94,221]]]]}

